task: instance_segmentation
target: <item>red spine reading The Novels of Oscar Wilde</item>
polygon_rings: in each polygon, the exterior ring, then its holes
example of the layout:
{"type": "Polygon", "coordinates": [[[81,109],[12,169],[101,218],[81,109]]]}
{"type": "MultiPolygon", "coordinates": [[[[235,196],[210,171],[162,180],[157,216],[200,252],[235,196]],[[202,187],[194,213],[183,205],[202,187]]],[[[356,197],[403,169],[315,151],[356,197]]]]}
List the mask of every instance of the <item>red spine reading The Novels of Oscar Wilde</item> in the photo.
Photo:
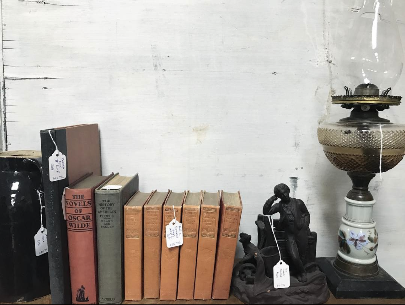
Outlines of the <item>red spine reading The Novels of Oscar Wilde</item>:
{"type": "Polygon", "coordinates": [[[96,304],[95,209],[92,189],[66,189],[66,227],[72,304],[96,304]]]}

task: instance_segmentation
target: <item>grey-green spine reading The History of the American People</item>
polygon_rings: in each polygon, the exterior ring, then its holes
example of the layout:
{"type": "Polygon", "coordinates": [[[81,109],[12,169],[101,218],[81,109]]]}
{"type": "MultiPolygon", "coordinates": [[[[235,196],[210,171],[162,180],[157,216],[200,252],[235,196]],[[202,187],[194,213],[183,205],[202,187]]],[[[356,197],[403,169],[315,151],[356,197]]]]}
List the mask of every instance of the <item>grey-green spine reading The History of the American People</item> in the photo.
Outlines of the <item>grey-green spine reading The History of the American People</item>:
{"type": "Polygon", "coordinates": [[[121,304],[123,299],[123,244],[121,192],[96,193],[98,302],[121,304]]]}

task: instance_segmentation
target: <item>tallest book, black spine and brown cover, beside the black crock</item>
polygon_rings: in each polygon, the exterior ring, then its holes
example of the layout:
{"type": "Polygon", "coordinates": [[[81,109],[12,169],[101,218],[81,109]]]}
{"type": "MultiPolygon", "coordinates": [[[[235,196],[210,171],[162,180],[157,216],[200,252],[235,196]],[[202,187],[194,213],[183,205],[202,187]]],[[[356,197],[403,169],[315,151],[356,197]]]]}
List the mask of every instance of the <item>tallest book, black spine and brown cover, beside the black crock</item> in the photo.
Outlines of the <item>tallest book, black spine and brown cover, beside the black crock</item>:
{"type": "Polygon", "coordinates": [[[72,304],[62,196],[64,188],[86,173],[101,175],[98,125],[83,124],[41,130],[40,136],[52,304],[72,304]],[[66,156],[66,177],[58,181],[49,179],[48,159],[56,149],[52,139],[58,145],[58,151],[66,156]]]}

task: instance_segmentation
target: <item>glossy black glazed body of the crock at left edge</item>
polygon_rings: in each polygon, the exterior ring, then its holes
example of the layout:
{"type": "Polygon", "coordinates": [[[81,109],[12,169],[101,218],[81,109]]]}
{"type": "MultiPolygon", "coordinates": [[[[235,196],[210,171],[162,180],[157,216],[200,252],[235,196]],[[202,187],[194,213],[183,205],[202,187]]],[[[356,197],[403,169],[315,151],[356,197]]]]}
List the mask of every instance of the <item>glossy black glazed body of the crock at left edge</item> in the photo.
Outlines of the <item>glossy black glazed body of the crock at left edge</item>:
{"type": "MultiPolygon", "coordinates": [[[[0,302],[32,301],[50,293],[48,254],[36,256],[34,245],[41,226],[41,164],[41,158],[0,157],[0,302]]],[[[45,209],[42,215],[45,226],[45,209]]]]}

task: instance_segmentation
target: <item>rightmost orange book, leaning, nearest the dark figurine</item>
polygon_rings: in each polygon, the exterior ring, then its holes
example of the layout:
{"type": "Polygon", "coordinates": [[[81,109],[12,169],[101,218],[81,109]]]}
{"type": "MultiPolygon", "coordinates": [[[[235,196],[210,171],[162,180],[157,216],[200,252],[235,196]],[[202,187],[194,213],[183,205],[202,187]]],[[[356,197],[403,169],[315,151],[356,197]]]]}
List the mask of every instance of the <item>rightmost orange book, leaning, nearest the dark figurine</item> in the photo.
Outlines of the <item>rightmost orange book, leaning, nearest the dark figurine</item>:
{"type": "Polygon", "coordinates": [[[213,299],[229,299],[230,282],[241,222],[242,200],[239,191],[221,191],[220,230],[215,260],[213,299]]]}

